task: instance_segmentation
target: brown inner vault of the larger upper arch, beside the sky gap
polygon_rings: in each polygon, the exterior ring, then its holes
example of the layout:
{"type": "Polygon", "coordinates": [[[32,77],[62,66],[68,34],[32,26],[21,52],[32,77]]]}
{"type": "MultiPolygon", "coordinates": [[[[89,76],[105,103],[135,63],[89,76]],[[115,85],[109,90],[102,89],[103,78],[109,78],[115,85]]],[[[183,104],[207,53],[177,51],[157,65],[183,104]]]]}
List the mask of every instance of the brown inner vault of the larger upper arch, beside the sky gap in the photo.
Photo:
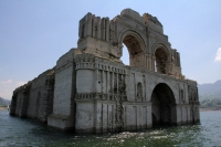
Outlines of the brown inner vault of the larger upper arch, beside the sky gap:
{"type": "Polygon", "coordinates": [[[128,34],[123,39],[123,44],[125,44],[128,50],[129,65],[144,67],[144,51],[140,41],[135,35],[128,34]]]}

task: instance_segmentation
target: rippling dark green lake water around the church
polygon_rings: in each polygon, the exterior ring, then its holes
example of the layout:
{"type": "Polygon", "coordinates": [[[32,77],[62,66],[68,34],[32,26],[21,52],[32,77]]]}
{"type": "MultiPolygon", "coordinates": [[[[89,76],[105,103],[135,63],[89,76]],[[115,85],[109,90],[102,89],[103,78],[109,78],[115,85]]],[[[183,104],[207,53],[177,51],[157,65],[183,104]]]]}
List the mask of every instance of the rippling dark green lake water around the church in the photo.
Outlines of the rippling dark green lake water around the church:
{"type": "Polygon", "coordinates": [[[0,147],[187,147],[221,146],[221,112],[201,112],[200,125],[136,133],[78,135],[0,111],[0,147]]]}

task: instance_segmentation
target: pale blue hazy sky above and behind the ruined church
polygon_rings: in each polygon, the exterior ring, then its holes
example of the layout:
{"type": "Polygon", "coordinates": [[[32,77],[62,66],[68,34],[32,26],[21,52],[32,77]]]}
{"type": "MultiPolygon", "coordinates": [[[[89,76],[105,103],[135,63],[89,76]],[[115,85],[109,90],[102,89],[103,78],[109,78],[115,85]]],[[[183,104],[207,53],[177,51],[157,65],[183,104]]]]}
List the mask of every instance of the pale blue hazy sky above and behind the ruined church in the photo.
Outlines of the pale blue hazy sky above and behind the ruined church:
{"type": "Polygon", "coordinates": [[[158,18],[187,78],[221,80],[221,0],[0,0],[0,96],[11,99],[15,87],[76,48],[87,12],[113,19],[126,8],[158,18]]]}

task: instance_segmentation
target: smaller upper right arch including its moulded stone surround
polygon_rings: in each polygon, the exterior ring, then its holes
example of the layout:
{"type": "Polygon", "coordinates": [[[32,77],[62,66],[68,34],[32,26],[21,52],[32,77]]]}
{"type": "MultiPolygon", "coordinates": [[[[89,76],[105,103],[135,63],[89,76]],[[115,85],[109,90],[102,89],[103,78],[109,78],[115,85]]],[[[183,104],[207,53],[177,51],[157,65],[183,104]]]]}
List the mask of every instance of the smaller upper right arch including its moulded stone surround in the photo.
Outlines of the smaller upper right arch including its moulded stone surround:
{"type": "Polygon", "coordinates": [[[162,43],[157,43],[152,48],[152,54],[155,55],[155,71],[162,74],[169,74],[171,59],[169,49],[162,43]]]}

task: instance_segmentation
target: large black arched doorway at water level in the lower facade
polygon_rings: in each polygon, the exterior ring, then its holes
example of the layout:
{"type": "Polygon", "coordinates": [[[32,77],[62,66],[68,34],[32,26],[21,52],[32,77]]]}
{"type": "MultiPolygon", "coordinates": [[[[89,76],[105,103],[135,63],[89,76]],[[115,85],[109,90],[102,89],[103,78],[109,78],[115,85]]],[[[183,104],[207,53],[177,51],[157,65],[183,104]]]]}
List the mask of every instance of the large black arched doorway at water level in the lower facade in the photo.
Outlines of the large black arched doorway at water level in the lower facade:
{"type": "Polygon", "coordinates": [[[175,96],[167,84],[160,83],[154,88],[151,103],[152,126],[177,123],[175,96]]]}

